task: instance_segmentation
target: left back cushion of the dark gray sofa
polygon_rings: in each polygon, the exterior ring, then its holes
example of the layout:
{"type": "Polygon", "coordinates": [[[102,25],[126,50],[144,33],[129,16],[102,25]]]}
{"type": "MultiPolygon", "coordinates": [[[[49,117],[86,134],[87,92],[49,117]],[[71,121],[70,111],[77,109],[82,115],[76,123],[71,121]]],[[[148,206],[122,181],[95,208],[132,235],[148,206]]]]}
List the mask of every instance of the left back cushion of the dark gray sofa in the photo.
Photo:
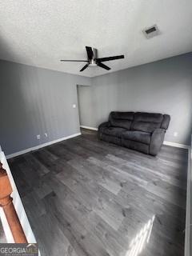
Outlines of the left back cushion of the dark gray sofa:
{"type": "Polygon", "coordinates": [[[110,126],[125,128],[130,130],[134,121],[134,112],[111,112],[110,126]]]}

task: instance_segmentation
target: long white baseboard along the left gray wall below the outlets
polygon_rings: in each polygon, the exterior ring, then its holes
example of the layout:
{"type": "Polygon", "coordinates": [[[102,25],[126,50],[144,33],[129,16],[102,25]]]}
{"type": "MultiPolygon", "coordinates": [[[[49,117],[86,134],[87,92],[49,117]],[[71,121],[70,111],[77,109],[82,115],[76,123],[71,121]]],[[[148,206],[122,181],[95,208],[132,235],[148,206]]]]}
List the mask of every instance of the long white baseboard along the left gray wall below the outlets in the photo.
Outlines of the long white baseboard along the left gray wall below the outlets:
{"type": "Polygon", "coordinates": [[[43,144],[40,144],[38,146],[33,146],[33,147],[30,147],[26,150],[21,150],[21,151],[18,151],[18,152],[15,152],[14,154],[8,154],[6,155],[6,159],[9,159],[9,158],[15,158],[17,157],[18,155],[20,154],[26,154],[30,151],[33,151],[33,150],[38,150],[38,149],[41,149],[42,147],[45,147],[45,146],[50,146],[54,143],[57,143],[57,142],[62,142],[62,141],[65,141],[66,139],[69,139],[69,138],[74,138],[74,137],[77,137],[81,135],[81,133],[78,133],[78,134],[72,134],[70,136],[66,136],[66,137],[63,137],[63,138],[58,138],[58,139],[55,139],[54,141],[51,141],[51,142],[46,142],[46,143],[43,143],[43,144]]]}

